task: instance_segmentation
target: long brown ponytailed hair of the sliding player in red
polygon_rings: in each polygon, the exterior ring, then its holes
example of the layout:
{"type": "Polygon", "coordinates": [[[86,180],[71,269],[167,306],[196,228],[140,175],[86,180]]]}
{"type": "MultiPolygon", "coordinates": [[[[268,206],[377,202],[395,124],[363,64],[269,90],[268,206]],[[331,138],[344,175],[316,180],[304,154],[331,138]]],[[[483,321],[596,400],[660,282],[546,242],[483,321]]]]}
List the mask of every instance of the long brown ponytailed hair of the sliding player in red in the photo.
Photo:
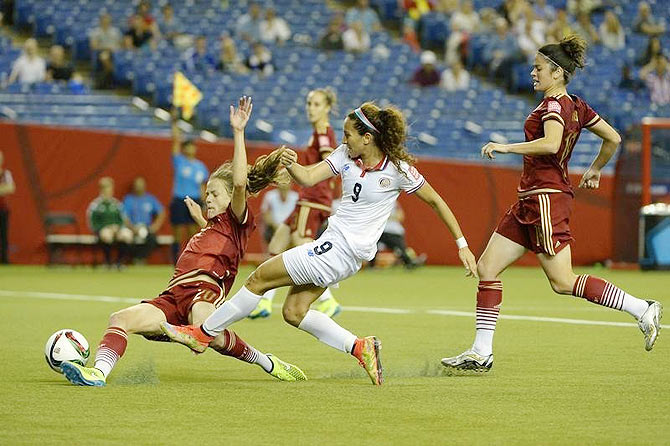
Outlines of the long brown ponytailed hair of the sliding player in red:
{"type": "MultiPolygon", "coordinates": [[[[286,148],[279,147],[268,155],[256,158],[253,165],[247,165],[247,192],[255,194],[270,185],[284,185],[291,182],[291,177],[279,162],[279,157],[286,148]]],[[[226,191],[233,193],[233,162],[226,161],[209,177],[224,182],[226,191]]]]}

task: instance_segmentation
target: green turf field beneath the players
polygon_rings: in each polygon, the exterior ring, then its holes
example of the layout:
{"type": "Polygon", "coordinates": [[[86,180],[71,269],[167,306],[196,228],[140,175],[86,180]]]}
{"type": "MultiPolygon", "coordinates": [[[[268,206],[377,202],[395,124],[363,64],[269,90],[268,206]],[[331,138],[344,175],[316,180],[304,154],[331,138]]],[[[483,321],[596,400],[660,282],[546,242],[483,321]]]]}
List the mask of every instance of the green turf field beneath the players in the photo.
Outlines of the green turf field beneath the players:
{"type": "MultiPolygon", "coordinates": [[[[667,272],[578,272],[670,308],[667,272]]],[[[345,306],[337,321],[383,342],[380,388],[352,357],[278,312],[234,328],[300,365],[307,382],[278,382],[215,352],[195,357],[139,337],[102,389],[71,386],[46,365],[52,332],[74,328],[95,350],[108,315],[128,298],[153,297],[170,274],[167,267],[0,268],[0,444],[670,443],[667,329],[647,353],[636,327],[501,319],[493,370],[445,376],[440,358],[469,347],[474,333],[473,317],[432,312],[474,310],[476,282],[457,268],[363,271],[334,290],[345,306]]],[[[503,315],[633,322],[552,294],[537,269],[511,269],[503,280],[503,315]]]]}

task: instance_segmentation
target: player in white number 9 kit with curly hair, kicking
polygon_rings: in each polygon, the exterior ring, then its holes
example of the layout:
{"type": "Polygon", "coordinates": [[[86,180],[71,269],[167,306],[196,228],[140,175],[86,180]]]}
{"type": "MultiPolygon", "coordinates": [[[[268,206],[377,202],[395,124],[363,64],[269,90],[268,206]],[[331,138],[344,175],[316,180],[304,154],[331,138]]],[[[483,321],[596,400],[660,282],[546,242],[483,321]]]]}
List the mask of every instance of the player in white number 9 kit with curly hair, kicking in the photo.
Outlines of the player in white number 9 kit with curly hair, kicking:
{"type": "Polygon", "coordinates": [[[351,353],[373,384],[383,382],[375,336],[359,338],[323,313],[310,309],[324,290],[355,274],[371,260],[377,241],[401,191],[415,193],[438,214],[456,240],[458,256],[468,275],[476,272],[475,257],[447,204],[412,166],[404,147],[406,123],[395,107],[380,109],[365,103],[344,121],[342,145],[324,161],[304,167],[286,150],[282,163],[293,179],[310,186],[336,175],[342,178],[342,201],[328,219],[328,229],[317,240],[285,251],[260,265],[245,285],[201,326],[161,324],[173,341],[196,352],[204,351],[218,333],[246,317],[268,290],[290,286],[284,302],[284,320],[321,342],[351,353]]]}

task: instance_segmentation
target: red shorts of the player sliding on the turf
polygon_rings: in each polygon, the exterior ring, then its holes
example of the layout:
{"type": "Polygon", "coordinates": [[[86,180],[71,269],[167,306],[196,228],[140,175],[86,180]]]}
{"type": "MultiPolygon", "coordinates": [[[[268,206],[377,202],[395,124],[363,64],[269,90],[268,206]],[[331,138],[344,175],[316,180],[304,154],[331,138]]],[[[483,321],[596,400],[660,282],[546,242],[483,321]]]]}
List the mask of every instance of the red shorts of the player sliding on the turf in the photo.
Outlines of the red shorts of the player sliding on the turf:
{"type": "Polygon", "coordinates": [[[163,291],[158,297],[142,302],[161,310],[169,323],[188,325],[191,307],[200,301],[214,305],[221,304],[223,303],[223,290],[209,282],[189,282],[175,285],[163,291]]]}

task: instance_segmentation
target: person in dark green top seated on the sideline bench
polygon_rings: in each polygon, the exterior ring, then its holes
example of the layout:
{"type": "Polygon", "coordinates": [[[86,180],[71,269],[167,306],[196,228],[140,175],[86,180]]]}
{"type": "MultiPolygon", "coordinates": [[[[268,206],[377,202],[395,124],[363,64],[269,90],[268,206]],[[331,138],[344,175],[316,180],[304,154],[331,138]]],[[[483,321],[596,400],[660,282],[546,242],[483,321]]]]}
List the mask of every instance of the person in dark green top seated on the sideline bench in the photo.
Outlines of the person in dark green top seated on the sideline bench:
{"type": "Polygon", "coordinates": [[[86,217],[102,245],[107,265],[112,264],[112,246],[118,245],[116,264],[120,267],[133,241],[133,231],[124,226],[123,206],[114,198],[114,180],[103,177],[98,184],[100,195],[88,205],[86,217]]]}

